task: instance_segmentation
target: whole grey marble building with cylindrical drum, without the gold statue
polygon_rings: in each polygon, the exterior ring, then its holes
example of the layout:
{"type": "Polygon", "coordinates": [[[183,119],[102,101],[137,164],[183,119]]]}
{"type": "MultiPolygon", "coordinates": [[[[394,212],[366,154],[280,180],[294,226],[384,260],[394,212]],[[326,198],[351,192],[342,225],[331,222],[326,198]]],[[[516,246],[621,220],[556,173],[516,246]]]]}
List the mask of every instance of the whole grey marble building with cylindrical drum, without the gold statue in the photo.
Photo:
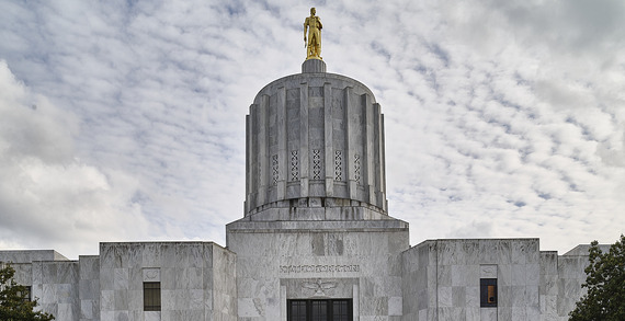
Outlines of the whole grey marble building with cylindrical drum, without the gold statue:
{"type": "Polygon", "coordinates": [[[410,247],[408,223],[387,213],[380,105],[322,60],[302,70],[250,106],[245,211],[226,226],[226,248],[101,243],[76,261],[37,250],[0,251],[0,263],[64,321],[286,321],[292,300],[325,299],[348,301],[361,321],[568,319],[588,245],[562,255],[538,239],[410,247]],[[154,311],[146,284],[159,286],[154,311]]]}

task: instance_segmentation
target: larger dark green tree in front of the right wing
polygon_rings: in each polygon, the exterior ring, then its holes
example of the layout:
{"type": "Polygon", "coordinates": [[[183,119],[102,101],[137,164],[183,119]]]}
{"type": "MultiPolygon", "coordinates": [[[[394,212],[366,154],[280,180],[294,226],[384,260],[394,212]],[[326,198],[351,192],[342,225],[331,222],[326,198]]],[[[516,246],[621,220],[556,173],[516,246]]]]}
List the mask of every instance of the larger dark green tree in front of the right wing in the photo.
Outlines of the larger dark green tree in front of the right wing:
{"type": "Polygon", "coordinates": [[[625,237],[602,253],[596,241],[590,247],[590,265],[584,270],[588,293],[576,303],[571,321],[625,320],[625,237]]]}

